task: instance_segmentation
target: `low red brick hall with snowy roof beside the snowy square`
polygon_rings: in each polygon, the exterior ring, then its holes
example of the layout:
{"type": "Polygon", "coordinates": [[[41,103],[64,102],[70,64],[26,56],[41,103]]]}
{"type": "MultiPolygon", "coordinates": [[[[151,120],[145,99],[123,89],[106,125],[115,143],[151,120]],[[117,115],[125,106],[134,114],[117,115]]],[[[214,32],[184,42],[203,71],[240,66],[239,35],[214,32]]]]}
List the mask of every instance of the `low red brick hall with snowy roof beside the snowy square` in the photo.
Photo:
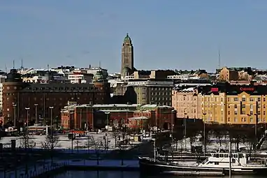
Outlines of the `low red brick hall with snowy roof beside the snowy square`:
{"type": "Polygon", "coordinates": [[[76,105],[66,106],[62,110],[64,128],[95,129],[110,126],[128,126],[130,128],[158,126],[169,129],[176,112],[173,107],[159,105],[76,105]],[[140,119],[142,117],[142,119],[140,119]],[[146,119],[144,119],[146,118],[146,119]],[[125,125],[124,125],[125,124],[125,125]]]}

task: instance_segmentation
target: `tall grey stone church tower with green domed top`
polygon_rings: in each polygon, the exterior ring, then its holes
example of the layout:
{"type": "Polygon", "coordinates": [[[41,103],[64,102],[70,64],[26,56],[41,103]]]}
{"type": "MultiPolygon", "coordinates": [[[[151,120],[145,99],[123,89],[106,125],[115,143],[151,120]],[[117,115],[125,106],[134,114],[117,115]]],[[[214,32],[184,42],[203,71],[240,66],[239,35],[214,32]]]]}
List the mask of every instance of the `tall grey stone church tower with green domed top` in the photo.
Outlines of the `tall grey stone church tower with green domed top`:
{"type": "Polygon", "coordinates": [[[122,77],[131,75],[133,73],[133,44],[131,43],[131,38],[127,34],[124,38],[122,44],[122,68],[121,75],[122,77]]]}

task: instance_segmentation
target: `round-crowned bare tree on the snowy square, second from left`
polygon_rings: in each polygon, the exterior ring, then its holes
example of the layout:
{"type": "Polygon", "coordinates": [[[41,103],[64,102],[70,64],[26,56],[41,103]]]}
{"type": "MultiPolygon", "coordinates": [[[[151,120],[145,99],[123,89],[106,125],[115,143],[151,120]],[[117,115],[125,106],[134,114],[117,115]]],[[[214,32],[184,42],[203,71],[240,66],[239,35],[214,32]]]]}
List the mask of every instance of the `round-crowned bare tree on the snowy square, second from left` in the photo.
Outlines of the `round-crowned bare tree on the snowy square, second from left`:
{"type": "Polygon", "coordinates": [[[43,149],[46,149],[50,151],[50,158],[51,158],[51,164],[53,162],[53,152],[56,147],[61,147],[59,143],[59,136],[53,135],[53,134],[48,134],[45,137],[45,140],[41,142],[41,145],[43,149]]]}

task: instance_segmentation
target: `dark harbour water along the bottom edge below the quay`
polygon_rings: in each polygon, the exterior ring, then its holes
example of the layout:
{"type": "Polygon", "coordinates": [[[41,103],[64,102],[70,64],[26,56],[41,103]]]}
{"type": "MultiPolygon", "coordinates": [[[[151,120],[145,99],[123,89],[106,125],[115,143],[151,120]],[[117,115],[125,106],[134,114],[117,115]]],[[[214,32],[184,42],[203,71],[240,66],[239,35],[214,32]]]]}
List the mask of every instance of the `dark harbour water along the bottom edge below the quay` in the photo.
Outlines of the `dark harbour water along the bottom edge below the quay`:
{"type": "MultiPolygon", "coordinates": [[[[178,175],[157,175],[157,176],[140,176],[139,172],[117,172],[117,171],[67,171],[61,175],[57,175],[54,178],[177,178],[182,177],[178,175]]],[[[227,176],[226,176],[227,177],[227,176]]],[[[226,178],[225,177],[225,178],[226,178]]],[[[187,177],[192,178],[192,177],[187,177]]],[[[210,178],[210,177],[202,177],[210,178]]],[[[266,176],[254,176],[254,175],[238,175],[232,176],[232,178],[266,178],[266,176]]]]}

